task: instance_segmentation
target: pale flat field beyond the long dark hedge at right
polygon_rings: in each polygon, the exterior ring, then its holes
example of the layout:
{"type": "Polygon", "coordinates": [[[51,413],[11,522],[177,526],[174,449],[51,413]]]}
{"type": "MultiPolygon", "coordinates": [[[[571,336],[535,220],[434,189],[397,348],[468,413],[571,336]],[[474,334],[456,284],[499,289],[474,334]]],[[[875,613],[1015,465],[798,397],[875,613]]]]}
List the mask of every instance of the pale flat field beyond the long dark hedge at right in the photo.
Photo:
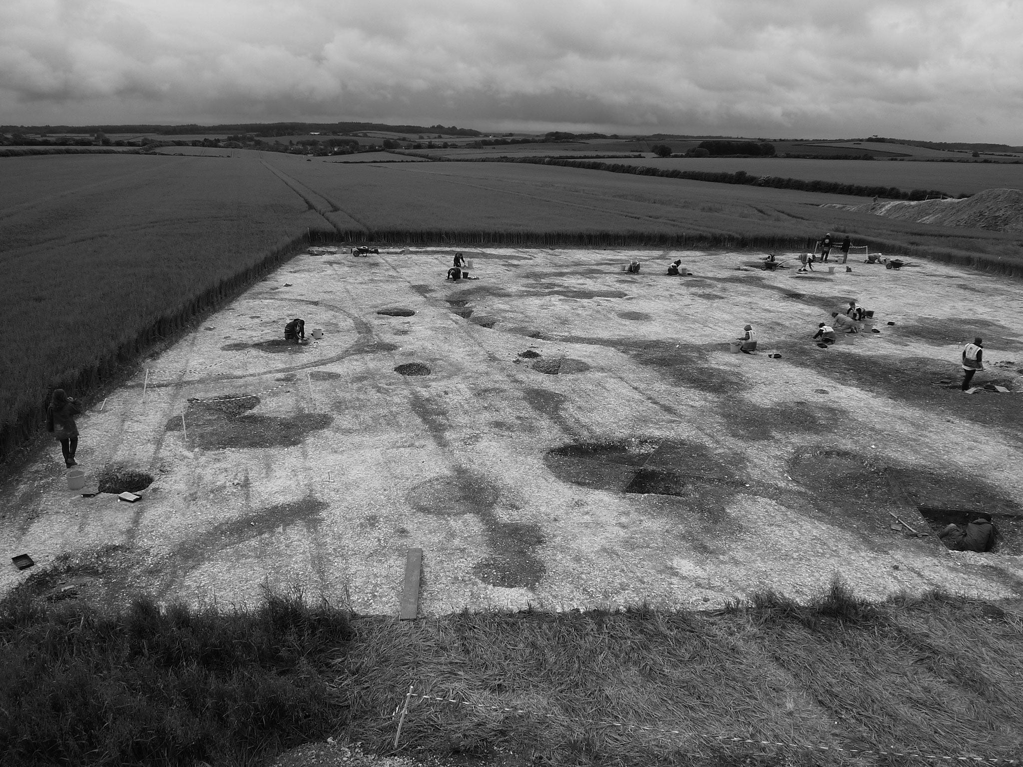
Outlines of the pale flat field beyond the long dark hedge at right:
{"type": "Polygon", "coordinates": [[[900,189],[941,189],[955,196],[983,189],[1023,189],[1023,165],[1006,163],[917,163],[884,160],[795,160],[784,157],[648,157],[616,160],[622,165],[678,168],[683,171],[780,176],[837,181],[863,186],[897,186],[900,189]]]}

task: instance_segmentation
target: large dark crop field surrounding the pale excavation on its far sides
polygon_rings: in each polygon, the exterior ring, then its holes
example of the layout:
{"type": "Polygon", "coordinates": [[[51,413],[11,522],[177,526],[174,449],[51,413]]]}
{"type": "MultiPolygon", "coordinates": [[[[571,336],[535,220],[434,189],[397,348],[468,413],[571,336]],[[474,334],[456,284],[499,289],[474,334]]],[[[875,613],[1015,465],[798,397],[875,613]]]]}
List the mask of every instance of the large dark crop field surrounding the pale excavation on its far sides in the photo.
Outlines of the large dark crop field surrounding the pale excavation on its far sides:
{"type": "Polygon", "coordinates": [[[862,201],[836,194],[534,165],[232,154],[0,161],[9,181],[0,186],[0,452],[38,425],[51,387],[87,371],[94,378],[119,354],[130,359],[125,345],[151,335],[158,320],[187,314],[197,297],[308,229],[396,242],[555,243],[581,233],[608,244],[677,243],[684,235],[694,246],[769,250],[802,250],[833,231],[872,250],[1023,261],[1020,243],[997,232],[820,208],[862,201]]]}

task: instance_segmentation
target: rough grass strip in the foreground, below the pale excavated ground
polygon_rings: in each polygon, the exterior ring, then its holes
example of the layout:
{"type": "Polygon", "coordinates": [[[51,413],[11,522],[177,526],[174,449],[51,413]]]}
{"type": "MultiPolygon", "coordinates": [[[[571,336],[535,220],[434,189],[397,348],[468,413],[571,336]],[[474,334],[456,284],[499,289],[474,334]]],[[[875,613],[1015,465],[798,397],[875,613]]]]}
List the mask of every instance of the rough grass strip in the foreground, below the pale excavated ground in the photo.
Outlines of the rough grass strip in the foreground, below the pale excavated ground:
{"type": "Polygon", "coordinates": [[[52,581],[40,573],[0,602],[4,765],[269,764],[328,735],[386,753],[409,684],[416,695],[464,702],[411,698],[400,749],[419,756],[616,765],[920,763],[882,754],[893,751],[1023,758],[1020,603],[932,593],[872,604],[835,583],[809,604],[768,592],[717,614],[527,611],[399,623],[269,592],[255,610],[161,610],[143,598],[104,614],[47,604],[52,581]]]}

